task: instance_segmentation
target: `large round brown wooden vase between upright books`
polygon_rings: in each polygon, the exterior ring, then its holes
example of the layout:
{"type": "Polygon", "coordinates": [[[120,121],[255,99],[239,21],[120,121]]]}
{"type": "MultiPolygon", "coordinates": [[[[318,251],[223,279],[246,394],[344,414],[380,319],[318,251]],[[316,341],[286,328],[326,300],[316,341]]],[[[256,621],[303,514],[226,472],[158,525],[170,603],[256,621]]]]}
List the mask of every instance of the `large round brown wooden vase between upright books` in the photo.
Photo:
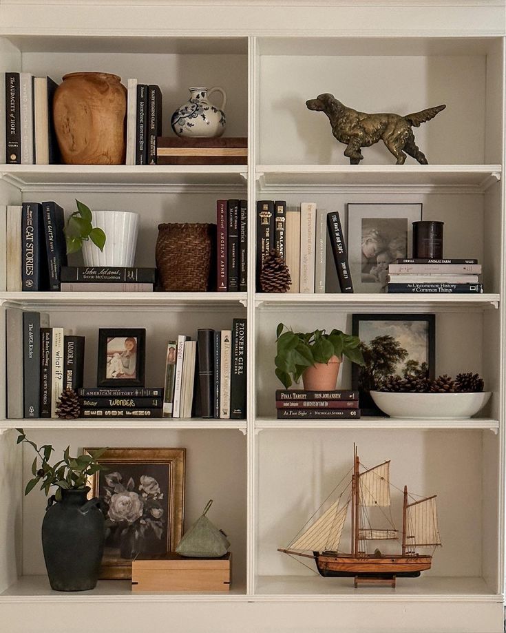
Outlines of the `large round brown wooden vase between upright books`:
{"type": "Polygon", "coordinates": [[[71,72],[56,88],[53,117],[63,163],[125,163],[127,90],[107,72],[71,72]]]}

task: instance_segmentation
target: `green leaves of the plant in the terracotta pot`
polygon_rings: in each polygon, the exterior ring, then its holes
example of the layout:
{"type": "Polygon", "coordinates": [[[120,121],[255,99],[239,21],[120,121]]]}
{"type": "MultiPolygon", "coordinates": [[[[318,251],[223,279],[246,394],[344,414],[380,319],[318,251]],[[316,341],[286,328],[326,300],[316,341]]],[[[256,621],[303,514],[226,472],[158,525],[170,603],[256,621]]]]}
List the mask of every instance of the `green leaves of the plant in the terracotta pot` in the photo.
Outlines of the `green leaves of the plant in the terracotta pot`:
{"type": "Polygon", "coordinates": [[[293,332],[283,323],[276,330],[276,375],[288,389],[292,382],[299,382],[304,370],[316,363],[328,363],[337,356],[346,356],[351,362],[363,365],[363,355],[358,336],[334,329],[313,332],[293,332]],[[286,330],[286,331],[284,331],[286,330]]]}

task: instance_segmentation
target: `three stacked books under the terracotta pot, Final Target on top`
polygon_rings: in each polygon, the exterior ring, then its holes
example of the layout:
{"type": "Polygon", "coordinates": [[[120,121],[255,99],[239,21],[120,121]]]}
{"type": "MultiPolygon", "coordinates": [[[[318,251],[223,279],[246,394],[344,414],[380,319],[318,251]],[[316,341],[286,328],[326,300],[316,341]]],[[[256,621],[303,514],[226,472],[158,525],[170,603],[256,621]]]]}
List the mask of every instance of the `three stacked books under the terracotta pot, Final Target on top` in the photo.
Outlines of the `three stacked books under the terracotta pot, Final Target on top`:
{"type": "Polygon", "coordinates": [[[277,389],[278,419],[358,419],[359,393],[347,389],[299,391],[277,389]]]}

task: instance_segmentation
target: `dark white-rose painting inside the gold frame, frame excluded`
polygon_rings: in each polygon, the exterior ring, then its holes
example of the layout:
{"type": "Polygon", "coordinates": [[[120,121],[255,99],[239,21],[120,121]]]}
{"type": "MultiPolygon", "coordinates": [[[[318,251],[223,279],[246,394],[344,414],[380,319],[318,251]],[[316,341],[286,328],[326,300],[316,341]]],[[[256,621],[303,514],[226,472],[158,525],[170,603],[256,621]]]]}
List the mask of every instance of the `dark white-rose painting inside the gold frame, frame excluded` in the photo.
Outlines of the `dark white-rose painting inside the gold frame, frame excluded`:
{"type": "Polygon", "coordinates": [[[168,464],[105,464],[100,497],[105,512],[105,557],[131,560],[167,552],[168,464]]]}

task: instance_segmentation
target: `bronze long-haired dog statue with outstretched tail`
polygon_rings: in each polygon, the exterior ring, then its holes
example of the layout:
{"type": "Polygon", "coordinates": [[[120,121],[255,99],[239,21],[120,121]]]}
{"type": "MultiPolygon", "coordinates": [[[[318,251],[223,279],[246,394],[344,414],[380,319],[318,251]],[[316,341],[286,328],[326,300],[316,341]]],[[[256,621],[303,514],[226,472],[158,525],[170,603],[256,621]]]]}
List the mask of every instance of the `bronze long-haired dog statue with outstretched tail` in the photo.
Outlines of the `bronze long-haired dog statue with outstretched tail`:
{"type": "Polygon", "coordinates": [[[325,112],[337,141],[348,145],[344,156],[348,156],[351,165],[358,165],[363,159],[361,147],[369,147],[378,141],[383,141],[388,151],[397,158],[397,165],[404,164],[406,154],[418,160],[421,165],[427,165],[427,158],[414,142],[412,127],[420,127],[420,123],[430,121],[446,107],[436,105],[406,116],[367,114],[347,107],[328,92],[319,94],[315,99],[308,99],[306,106],[309,110],[325,112]]]}

